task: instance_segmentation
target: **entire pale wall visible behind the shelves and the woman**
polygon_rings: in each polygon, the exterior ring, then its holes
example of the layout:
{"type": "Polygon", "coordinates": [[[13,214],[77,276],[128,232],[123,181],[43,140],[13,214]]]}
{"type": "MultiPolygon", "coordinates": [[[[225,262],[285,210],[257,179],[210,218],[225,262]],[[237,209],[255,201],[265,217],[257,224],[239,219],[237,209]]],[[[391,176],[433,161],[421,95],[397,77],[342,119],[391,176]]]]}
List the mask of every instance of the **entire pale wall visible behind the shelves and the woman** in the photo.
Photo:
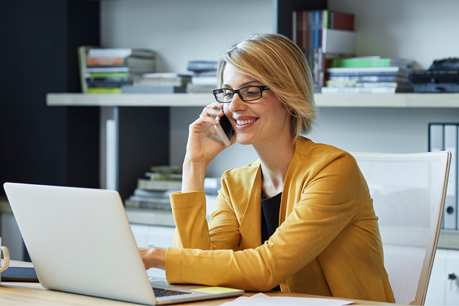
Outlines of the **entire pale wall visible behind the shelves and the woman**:
{"type": "MultiPolygon", "coordinates": [[[[418,68],[428,68],[435,59],[459,57],[457,0],[328,0],[328,8],[355,14],[358,56],[411,58],[418,68]]],[[[160,71],[186,72],[190,60],[216,60],[246,34],[272,32],[272,12],[271,0],[104,1],[101,42],[106,47],[155,49],[160,71]],[[215,40],[217,36],[221,40],[215,40]]],[[[459,109],[319,111],[310,138],[348,151],[426,151],[429,122],[459,122],[459,109]]],[[[188,125],[200,112],[201,108],[171,108],[171,164],[182,164],[188,125]]],[[[256,158],[250,146],[236,144],[212,162],[208,175],[221,175],[256,158]]]]}

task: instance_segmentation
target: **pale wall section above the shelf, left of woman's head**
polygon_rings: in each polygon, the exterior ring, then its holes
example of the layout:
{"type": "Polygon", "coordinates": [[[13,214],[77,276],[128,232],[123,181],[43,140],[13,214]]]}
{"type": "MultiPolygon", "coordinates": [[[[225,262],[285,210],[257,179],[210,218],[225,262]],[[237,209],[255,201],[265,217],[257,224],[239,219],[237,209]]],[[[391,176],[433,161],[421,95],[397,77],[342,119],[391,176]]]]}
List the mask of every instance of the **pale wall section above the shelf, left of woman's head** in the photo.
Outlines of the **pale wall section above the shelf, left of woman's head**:
{"type": "Polygon", "coordinates": [[[272,0],[100,2],[101,44],[151,48],[158,72],[187,72],[190,60],[217,60],[251,33],[273,30],[272,0]]]}

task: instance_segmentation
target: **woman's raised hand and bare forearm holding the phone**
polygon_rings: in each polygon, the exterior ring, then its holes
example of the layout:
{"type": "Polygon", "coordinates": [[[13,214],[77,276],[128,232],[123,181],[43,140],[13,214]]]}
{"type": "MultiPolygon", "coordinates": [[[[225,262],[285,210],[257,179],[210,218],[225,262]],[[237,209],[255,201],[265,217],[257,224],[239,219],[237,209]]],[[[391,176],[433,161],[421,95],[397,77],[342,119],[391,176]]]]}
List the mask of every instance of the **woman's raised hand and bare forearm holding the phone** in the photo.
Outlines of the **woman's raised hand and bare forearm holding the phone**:
{"type": "MultiPolygon", "coordinates": [[[[212,103],[206,106],[199,118],[189,126],[187,152],[183,164],[182,192],[203,189],[204,177],[209,163],[226,148],[218,139],[215,126],[220,124],[212,116],[223,116],[222,103],[212,103]]],[[[236,142],[233,137],[231,145],[236,142]]]]}

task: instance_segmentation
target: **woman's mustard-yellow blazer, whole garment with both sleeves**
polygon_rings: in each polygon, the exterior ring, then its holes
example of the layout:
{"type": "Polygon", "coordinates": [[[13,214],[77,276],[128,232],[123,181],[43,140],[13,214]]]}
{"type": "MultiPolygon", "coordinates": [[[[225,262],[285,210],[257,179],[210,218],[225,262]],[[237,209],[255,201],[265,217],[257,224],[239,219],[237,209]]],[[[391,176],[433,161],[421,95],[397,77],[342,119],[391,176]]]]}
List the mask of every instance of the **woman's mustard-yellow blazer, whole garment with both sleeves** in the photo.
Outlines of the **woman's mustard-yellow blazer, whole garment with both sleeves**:
{"type": "Polygon", "coordinates": [[[260,162],[222,175],[206,221],[203,191],[170,195],[175,248],[169,283],[192,283],[394,302],[373,202],[354,158],[298,137],[279,227],[261,243],[260,162]]]}

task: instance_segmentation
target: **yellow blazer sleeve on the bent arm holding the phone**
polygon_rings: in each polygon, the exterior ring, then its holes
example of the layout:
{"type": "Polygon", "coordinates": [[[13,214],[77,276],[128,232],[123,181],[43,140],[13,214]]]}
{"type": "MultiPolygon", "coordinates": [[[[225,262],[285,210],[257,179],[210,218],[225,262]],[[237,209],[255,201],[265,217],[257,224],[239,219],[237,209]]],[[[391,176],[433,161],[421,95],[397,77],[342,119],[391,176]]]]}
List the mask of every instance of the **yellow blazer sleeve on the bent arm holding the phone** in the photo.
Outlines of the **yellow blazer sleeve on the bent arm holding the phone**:
{"type": "MultiPolygon", "coordinates": [[[[220,192],[219,192],[220,193],[220,192]]],[[[219,194],[209,224],[204,191],[170,194],[175,221],[174,246],[201,250],[239,250],[239,222],[219,194]]]]}

